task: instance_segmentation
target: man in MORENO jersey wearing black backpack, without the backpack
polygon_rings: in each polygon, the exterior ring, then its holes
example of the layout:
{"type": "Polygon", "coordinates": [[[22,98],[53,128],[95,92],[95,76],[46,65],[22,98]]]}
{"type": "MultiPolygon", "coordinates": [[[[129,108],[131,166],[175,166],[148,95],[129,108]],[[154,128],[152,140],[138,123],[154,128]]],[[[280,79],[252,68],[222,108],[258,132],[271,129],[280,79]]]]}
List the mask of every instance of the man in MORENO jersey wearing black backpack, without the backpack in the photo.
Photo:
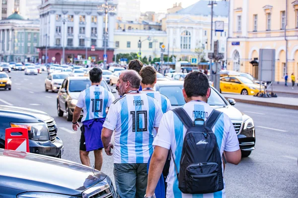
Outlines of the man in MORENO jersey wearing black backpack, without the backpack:
{"type": "MultiPolygon", "coordinates": [[[[209,80],[204,73],[195,71],[185,77],[183,97],[186,104],[183,105],[183,108],[192,120],[202,118],[206,121],[212,113],[213,108],[207,103],[210,93],[209,80]]],[[[154,189],[160,177],[163,164],[166,161],[168,150],[171,149],[174,158],[171,158],[169,175],[167,177],[167,198],[225,198],[225,187],[222,191],[201,195],[183,194],[180,191],[173,160],[175,160],[179,170],[182,146],[187,129],[173,111],[168,111],[161,119],[159,131],[160,133],[157,133],[153,142],[155,149],[149,167],[146,197],[151,198],[154,195],[154,189]]],[[[212,131],[217,138],[221,155],[224,153],[227,162],[238,164],[241,160],[241,151],[237,135],[229,117],[223,113],[215,123],[212,131]]],[[[196,147],[198,146],[200,145],[197,144],[196,147]]],[[[224,174],[224,168],[222,170],[224,174]]]]}

